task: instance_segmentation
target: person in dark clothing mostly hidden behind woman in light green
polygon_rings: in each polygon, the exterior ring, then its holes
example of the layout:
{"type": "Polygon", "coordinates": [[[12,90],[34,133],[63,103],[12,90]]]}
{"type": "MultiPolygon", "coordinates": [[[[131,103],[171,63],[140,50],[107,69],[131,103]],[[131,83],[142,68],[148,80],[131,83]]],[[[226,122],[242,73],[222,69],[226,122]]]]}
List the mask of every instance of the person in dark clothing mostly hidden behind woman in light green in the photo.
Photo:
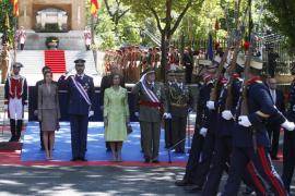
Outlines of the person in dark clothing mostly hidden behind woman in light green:
{"type": "MultiPolygon", "coordinates": [[[[109,75],[105,75],[102,78],[101,82],[101,94],[99,94],[99,106],[101,109],[104,110],[104,95],[105,95],[105,89],[109,88],[111,86],[113,83],[113,74],[117,74],[119,73],[119,68],[117,64],[113,63],[110,65],[110,74],[109,75]]],[[[125,78],[122,76],[120,76],[120,86],[125,88],[125,78]]],[[[110,146],[108,145],[108,143],[106,142],[106,149],[107,151],[110,151],[110,146]]]]}

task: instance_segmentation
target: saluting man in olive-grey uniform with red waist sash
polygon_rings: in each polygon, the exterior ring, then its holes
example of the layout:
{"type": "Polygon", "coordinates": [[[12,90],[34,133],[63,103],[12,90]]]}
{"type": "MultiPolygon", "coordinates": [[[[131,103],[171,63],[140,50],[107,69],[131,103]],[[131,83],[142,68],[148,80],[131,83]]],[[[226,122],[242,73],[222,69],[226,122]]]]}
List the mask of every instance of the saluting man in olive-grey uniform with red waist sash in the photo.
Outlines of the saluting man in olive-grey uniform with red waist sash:
{"type": "Polygon", "coordinates": [[[134,111],[139,118],[143,143],[144,162],[158,163],[158,147],[162,118],[167,119],[168,106],[164,86],[155,82],[155,71],[149,68],[142,73],[139,83],[132,89],[134,111]],[[164,110],[164,114],[162,111],[164,110]]]}

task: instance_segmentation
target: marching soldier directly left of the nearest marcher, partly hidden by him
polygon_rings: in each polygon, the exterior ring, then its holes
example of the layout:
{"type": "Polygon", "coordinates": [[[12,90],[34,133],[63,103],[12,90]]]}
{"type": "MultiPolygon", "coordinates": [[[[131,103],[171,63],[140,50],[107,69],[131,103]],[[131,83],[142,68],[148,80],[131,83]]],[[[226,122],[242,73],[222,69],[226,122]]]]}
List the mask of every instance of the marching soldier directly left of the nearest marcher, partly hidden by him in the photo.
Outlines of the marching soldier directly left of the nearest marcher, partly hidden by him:
{"type": "MultiPolygon", "coordinates": [[[[233,83],[232,88],[228,88],[228,84],[223,86],[223,93],[215,103],[219,108],[219,119],[217,119],[217,130],[215,137],[215,147],[214,155],[212,158],[212,162],[210,166],[210,171],[208,173],[206,182],[204,184],[202,195],[204,196],[215,196],[219,192],[219,185],[221,182],[221,177],[223,171],[228,169],[229,164],[229,156],[232,152],[232,128],[234,126],[234,115],[236,111],[236,106],[239,100],[240,87],[243,79],[239,77],[240,73],[244,70],[244,61],[241,58],[238,58],[236,72],[233,73],[233,83]],[[232,89],[232,106],[226,109],[226,99],[227,99],[227,90],[232,89]]],[[[252,162],[248,163],[247,169],[244,173],[244,183],[247,184],[248,187],[255,188],[258,195],[266,195],[266,187],[261,180],[256,175],[252,162]]]]}

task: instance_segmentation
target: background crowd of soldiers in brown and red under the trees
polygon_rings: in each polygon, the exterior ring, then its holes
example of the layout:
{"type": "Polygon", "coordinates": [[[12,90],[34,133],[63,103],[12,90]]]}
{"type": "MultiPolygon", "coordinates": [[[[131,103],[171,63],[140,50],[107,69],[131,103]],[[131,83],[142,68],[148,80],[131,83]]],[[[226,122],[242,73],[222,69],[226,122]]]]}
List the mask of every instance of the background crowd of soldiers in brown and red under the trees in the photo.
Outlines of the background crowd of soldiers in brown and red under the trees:
{"type": "MultiPolygon", "coordinates": [[[[186,83],[190,84],[193,75],[199,75],[198,73],[202,71],[198,59],[203,59],[204,52],[202,50],[192,51],[189,47],[186,47],[181,56],[177,48],[169,46],[166,58],[166,70],[186,68],[186,83]]],[[[153,68],[155,69],[156,78],[160,79],[161,60],[162,52],[160,47],[142,49],[138,46],[128,46],[118,50],[107,50],[104,72],[109,73],[110,65],[117,64],[126,82],[137,83],[145,69],[153,68]]]]}

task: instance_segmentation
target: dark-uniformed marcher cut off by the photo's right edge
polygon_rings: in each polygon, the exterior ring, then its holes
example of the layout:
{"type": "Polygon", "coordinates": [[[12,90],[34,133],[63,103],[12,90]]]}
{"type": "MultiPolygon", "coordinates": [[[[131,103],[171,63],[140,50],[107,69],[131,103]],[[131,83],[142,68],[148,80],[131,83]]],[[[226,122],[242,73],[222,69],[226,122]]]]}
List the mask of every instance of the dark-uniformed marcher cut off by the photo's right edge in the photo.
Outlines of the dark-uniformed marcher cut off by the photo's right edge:
{"type": "MultiPolygon", "coordinates": [[[[287,119],[295,122],[295,79],[291,84],[290,89],[290,107],[287,109],[287,119]]],[[[284,133],[284,146],[283,146],[283,175],[285,188],[290,192],[290,185],[295,167],[295,132],[284,133]]]]}

